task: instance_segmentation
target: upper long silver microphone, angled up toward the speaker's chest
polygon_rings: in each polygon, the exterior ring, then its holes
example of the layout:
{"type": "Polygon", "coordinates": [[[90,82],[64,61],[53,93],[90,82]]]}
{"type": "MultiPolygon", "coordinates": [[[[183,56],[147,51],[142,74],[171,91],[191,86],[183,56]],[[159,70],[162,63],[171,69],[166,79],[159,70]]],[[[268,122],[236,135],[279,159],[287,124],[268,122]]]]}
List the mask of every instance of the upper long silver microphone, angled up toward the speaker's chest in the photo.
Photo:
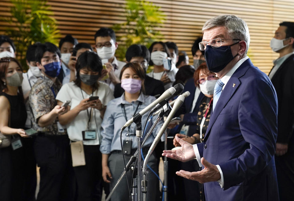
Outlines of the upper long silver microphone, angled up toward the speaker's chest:
{"type": "Polygon", "coordinates": [[[174,87],[170,87],[169,89],[167,89],[165,92],[162,93],[162,95],[160,97],[158,97],[158,99],[154,100],[151,104],[149,104],[146,108],[144,108],[143,110],[139,111],[138,114],[136,114],[135,116],[133,116],[131,119],[129,119],[124,126],[121,128],[121,130],[124,130],[126,127],[128,127],[129,125],[131,125],[134,122],[134,117],[138,117],[138,116],[143,116],[145,113],[147,113],[149,110],[151,110],[151,108],[153,108],[156,104],[162,102],[163,100],[165,100],[166,98],[171,97],[174,93],[176,92],[174,87]]]}

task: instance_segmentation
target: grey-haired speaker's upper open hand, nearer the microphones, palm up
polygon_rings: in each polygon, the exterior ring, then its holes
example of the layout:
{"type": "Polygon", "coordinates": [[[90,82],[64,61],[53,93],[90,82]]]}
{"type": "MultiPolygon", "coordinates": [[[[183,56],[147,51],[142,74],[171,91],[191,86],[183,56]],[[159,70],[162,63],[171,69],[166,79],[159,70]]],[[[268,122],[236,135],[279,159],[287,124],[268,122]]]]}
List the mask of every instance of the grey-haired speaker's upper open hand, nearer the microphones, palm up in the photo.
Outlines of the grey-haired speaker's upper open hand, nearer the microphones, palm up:
{"type": "Polygon", "coordinates": [[[186,162],[196,158],[192,144],[181,140],[178,136],[175,136],[175,139],[179,144],[181,144],[181,148],[177,150],[163,150],[163,156],[182,162],[186,162]]]}

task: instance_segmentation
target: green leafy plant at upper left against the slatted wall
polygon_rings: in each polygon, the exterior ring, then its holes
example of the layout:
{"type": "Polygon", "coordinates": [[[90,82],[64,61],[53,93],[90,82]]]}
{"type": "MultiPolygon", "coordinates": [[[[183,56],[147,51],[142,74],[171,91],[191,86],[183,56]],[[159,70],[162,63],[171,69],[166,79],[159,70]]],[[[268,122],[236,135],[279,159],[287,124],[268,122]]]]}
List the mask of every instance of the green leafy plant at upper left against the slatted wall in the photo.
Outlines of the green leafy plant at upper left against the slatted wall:
{"type": "Polygon", "coordinates": [[[60,35],[57,21],[52,17],[53,12],[47,1],[39,0],[11,0],[11,16],[5,18],[11,24],[6,30],[15,43],[17,58],[23,67],[25,54],[29,45],[35,42],[52,42],[57,45],[60,35]]]}

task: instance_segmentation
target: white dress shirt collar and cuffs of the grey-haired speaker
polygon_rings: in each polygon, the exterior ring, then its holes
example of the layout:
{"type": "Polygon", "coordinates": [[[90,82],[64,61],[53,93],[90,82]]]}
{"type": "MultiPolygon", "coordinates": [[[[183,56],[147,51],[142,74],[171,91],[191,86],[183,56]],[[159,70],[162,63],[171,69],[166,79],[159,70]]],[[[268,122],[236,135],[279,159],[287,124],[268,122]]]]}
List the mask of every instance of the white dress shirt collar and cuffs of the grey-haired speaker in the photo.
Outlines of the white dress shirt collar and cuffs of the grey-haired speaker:
{"type": "MultiPolygon", "coordinates": [[[[220,80],[224,83],[223,85],[223,89],[225,88],[225,86],[227,85],[229,79],[231,78],[231,76],[234,74],[234,72],[239,68],[239,66],[244,62],[246,61],[247,59],[249,59],[249,57],[244,57],[242,59],[240,59],[234,66],[233,68],[231,68],[231,70],[229,70],[222,78],[220,78],[220,80]]],[[[196,156],[196,159],[198,161],[198,164],[200,167],[202,167],[202,163],[201,163],[201,158],[200,158],[200,154],[199,154],[199,150],[198,150],[198,147],[197,147],[197,144],[193,144],[193,149],[194,149],[194,153],[195,153],[195,156],[196,156]]],[[[220,169],[220,166],[219,165],[216,165],[217,169],[220,171],[220,177],[221,179],[218,181],[219,184],[220,184],[220,187],[223,188],[223,185],[224,185],[224,181],[223,181],[223,172],[222,170],[220,169]]]]}

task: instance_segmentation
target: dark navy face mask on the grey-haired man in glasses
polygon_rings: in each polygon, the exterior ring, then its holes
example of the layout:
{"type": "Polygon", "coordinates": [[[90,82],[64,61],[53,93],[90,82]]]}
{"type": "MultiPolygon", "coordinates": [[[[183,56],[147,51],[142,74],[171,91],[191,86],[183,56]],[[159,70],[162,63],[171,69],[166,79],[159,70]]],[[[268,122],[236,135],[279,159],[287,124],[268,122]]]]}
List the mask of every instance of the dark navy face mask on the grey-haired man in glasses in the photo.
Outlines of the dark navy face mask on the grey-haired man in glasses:
{"type": "Polygon", "coordinates": [[[215,73],[223,70],[227,66],[227,64],[231,62],[231,60],[239,55],[236,54],[235,56],[233,56],[231,51],[231,46],[237,43],[239,42],[236,42],[230,46],[220,46],[218,48],[206,46],[204,56],[208,69],[215,73]]]}

